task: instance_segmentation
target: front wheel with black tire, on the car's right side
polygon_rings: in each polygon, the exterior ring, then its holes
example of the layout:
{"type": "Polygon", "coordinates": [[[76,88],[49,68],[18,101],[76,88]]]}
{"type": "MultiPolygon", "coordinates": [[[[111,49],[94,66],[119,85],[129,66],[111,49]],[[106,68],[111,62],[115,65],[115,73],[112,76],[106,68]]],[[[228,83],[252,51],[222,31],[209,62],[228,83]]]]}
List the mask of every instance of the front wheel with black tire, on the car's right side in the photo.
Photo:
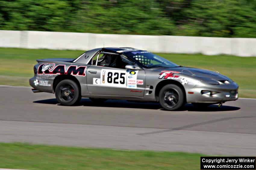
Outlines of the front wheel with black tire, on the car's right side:
{"type": "Polygon", "coordinates": [[[159,92],[159,103],[165,110],[178,110],[185,104],[184,95],[179,86],[165,85],[159,92]]]}

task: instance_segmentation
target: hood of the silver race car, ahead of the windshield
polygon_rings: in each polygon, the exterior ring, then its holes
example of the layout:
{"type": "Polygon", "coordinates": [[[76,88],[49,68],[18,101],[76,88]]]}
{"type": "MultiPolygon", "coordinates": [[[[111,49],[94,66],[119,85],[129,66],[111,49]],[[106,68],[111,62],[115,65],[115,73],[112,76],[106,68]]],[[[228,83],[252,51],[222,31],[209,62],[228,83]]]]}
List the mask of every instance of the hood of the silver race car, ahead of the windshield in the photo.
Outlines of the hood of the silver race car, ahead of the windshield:
{"type": "Polygon", "coordinates": [[[230,80],[228,77],[221,75],[220,73],[213,72],[210,70],[204,70],[204,69],[198,69],[198,68],[192,68],[192,67],[174,67],[174,68],[163,68],[161,69],[154,68],[154,70],[163,72],[163,71],[176,71],[179,72],[179,74],[185,74],[188,76],[192,76],[194,78],[210,78],[210,79],[215,79],[218,81],[223,81],[223,80],[230,80]]]}

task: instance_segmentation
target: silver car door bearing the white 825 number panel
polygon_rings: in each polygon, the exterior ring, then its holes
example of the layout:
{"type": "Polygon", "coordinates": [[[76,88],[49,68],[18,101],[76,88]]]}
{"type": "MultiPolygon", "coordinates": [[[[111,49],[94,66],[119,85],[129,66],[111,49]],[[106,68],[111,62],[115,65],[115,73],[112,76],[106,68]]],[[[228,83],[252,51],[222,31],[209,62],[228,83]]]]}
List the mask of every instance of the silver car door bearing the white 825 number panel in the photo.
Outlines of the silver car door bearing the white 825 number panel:
{"type": "Polygon", "coordinates": [[[91,65],[87,70],[86,78],[90,95],[144,96],[144,70],[126,70],[91,65]]]}

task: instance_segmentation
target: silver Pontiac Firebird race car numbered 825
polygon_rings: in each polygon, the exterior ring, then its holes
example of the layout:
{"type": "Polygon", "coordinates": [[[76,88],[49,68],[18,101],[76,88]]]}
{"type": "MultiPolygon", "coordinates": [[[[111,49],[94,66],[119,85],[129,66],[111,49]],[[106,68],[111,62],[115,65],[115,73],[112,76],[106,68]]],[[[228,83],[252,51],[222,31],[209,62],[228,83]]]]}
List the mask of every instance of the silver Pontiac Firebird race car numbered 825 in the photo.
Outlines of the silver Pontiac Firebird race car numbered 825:
{"type": "Polygon", "coordinates": [[[76,59],[37,60],[29,82],[33,92],[55,93],[59,103],[81,97],[159,102],[166,110],[185,103],[208,106],[238,99],[238,85],[209,70],[182,67],[151,52],[133,48],[97,48],[76,59]]]}

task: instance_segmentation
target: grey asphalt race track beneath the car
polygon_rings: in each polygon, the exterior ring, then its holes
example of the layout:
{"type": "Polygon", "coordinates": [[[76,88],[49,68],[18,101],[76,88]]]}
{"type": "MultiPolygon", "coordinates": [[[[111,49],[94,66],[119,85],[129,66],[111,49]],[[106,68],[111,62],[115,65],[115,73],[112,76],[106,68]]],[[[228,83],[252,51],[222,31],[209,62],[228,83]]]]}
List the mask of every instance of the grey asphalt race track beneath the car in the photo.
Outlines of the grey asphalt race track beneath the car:
{"type": "Polygon", "coordinates": [[[124,100],[61,106],[54,94],[0,86],[0,142],[255,156],[256,100],[168,112],[124,100]]]}

